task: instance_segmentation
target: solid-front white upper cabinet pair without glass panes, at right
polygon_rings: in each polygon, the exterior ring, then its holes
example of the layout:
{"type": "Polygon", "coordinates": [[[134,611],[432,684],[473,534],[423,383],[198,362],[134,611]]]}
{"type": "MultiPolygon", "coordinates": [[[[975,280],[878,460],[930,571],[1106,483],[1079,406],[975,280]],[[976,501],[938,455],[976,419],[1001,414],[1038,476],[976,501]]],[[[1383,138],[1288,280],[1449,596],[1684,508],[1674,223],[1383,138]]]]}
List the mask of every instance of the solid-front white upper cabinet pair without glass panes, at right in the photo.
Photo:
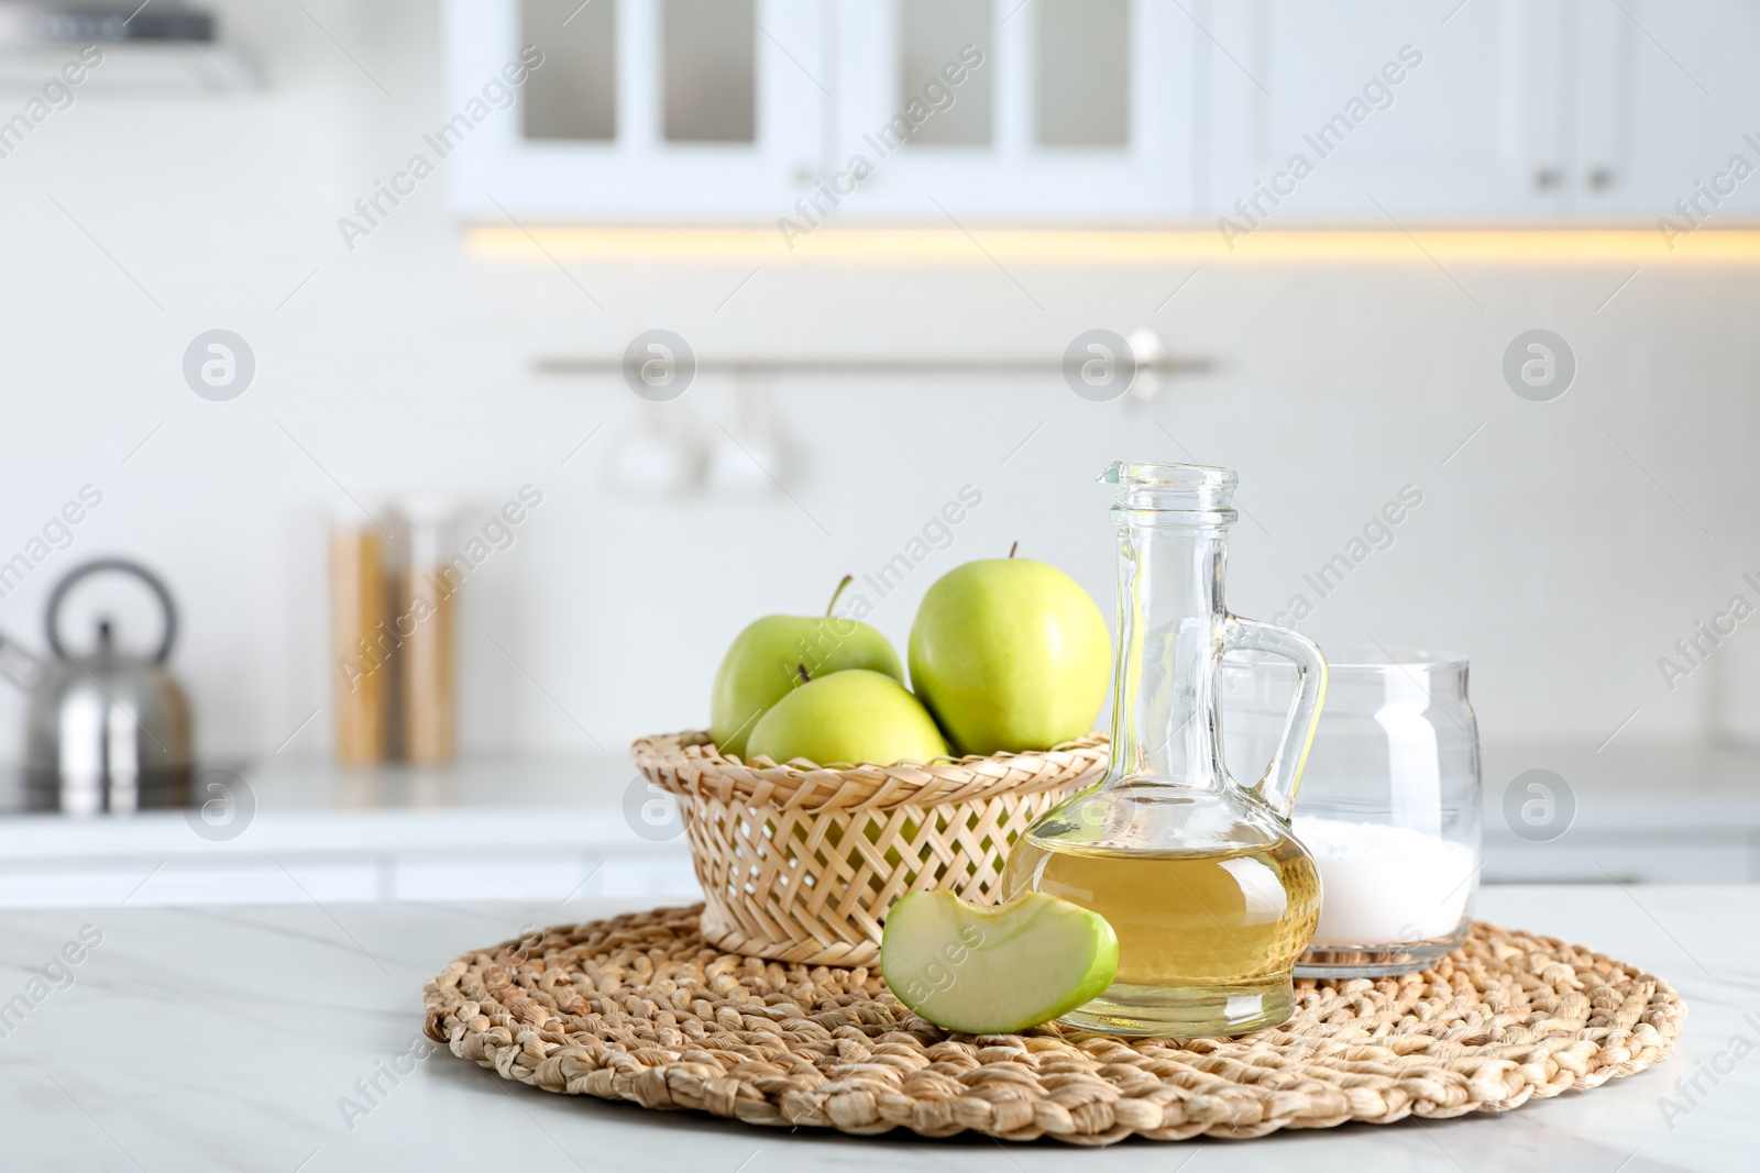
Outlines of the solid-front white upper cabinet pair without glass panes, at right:
{"type": "Polygon", "coordinates": [[[1213,33],[1211,204],[1248,230],[1760,211],[1753,0],[1221,0],[1213,33]]]}

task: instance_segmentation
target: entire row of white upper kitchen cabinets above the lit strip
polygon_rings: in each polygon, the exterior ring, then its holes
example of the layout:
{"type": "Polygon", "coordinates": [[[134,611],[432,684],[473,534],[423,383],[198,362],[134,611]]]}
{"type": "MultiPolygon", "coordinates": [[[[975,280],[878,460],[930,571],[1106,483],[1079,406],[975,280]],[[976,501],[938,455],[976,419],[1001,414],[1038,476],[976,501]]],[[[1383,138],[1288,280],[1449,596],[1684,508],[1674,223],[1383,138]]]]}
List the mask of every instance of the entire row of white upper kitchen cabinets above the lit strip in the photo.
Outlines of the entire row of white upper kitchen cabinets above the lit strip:
{"type": "Polygon", "coordinates": [[[447,46],[454,111],[544,53],[445,157],[486,222],[1760,211],[1755,0],[452,0],[447,46]]]}

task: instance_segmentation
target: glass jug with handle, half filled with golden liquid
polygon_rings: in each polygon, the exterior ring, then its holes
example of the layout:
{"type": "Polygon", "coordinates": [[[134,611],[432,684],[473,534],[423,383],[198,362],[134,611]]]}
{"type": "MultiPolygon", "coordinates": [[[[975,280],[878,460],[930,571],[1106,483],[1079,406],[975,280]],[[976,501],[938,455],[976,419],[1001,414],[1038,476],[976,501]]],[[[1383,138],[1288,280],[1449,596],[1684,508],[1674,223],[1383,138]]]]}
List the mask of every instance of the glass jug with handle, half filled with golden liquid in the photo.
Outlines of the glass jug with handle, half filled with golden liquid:
{"type": "Polygon", "coordinates": [[[1325,700],[1313,640],[1223,607],[1236,475],[1112,464],[1119,536],[1112,751],[1105,777],[1016,844],[1007,895],[1045,892],[1118,932],[1118,978],[1063,1024],[1111,1034],[1244,1034],[1294,1009],[1292,967],[1320,920],[1320,876],[1290,834],[1325,700]],[[1223,765],[1221,658],[1295,663],[1295,695],[1264,777],[1223,765]]]}

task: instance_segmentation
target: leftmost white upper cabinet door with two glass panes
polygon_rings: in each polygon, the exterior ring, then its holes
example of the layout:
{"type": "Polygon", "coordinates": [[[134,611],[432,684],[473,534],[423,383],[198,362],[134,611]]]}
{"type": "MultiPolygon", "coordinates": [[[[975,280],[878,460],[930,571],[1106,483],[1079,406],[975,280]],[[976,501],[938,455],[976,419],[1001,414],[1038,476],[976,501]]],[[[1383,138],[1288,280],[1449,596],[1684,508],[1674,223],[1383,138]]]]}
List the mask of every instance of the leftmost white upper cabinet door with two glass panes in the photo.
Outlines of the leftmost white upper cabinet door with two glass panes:
{"type": "Polygon", "coordinates": [[[820,0],[447,0],[444,157],[466,215],[773,222],[811,185],[831,104],[820,0]],[[542,63],[517,106],[484,86],[542,63]]]}

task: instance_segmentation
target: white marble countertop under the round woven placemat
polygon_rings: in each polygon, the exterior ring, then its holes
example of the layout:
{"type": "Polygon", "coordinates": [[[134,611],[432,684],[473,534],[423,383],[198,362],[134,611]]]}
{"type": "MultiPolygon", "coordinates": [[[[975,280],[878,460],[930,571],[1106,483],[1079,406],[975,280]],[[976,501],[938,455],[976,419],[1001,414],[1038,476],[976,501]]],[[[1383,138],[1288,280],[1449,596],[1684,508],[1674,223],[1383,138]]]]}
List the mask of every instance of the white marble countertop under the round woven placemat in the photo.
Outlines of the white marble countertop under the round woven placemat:
{"type": "MultiPolygon", "coordinates": [[[[454,955],[526,923],[583,920],[630,902],[304,904],[0,911],[7,1169],[567,1169],[672,1168],[822,1173],[931,1168],[973,1173],[1162,1169],[1197,1161],[1253,1169],[1644,1173],[1749,1169],[1760,1143],[1760,900],[1749,886],[1489,886],[1480,914],[1640,964],[1688,1002],[1674,1059],[1586,1094],[1389,1127],[1348,1126],[1253,1141],[926,1141],[776,1133],[505,1085],[440,1052],[368,1115],[357,1096],[417,1041],[421,987],[454,955]],[[76,965],[32,987],[69,943],[76,965]],[[100,937],[95,946],[92,939],[100,937]],[[90,948],[88,948],[90,946],[90,948]],[[53,988],[60,987],[60,988],[53,988]],[[1744,1018],[1751,1015],[1751,1018],[1744,1018]],[[1734,1039],[1746,1039],[1746,1048],[1734,1039]],[[1749,1053],[1749,1048],[1753,1053],[1749,1053]],[[1734,1059],[1735,1053],[1741,1059],[1734,1059]],[[1718,1083],[1670,1118],[1676,1083],[1718,1083]]],[[[1691,1094],[1691,1092],[1688,1092],[1691,1094]]],[[[1684,1101],[1683,1101],[1684,1103],[1684,1101]]]]}

